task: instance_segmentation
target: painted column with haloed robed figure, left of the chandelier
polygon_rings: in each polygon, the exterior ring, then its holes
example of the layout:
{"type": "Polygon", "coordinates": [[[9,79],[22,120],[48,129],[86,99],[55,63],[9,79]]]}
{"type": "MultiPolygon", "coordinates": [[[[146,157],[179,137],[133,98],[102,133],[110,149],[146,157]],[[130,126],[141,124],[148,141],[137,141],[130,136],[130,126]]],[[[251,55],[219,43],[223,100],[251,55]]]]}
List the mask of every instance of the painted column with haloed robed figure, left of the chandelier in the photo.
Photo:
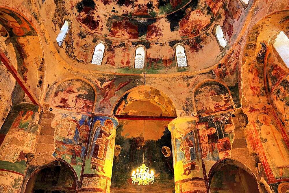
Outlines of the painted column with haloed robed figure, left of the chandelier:
{"type": "Polygon", "coordinates": [[[93,116],[92,120],[79,192],[110,192],[118,120],[106,114],[93,116]]]}

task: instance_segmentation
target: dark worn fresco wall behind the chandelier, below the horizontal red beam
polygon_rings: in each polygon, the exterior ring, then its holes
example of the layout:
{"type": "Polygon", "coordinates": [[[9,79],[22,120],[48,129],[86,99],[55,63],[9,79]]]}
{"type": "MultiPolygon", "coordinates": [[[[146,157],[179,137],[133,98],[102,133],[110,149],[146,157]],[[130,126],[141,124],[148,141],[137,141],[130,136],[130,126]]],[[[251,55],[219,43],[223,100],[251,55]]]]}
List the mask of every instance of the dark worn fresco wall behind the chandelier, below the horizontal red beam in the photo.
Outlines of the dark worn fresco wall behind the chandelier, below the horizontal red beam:
{"type": "Polygon", "coordinates": [[[112,191],[143,191],[142,186],[133,184],[131,179],[132,171],[142,164],[143,155],[144,164],[155,175],[153,185],[147,186],[145,191],[174,191],[171,132],[167,128],[169,122],[119,119],[112,168],[112,191]]]}

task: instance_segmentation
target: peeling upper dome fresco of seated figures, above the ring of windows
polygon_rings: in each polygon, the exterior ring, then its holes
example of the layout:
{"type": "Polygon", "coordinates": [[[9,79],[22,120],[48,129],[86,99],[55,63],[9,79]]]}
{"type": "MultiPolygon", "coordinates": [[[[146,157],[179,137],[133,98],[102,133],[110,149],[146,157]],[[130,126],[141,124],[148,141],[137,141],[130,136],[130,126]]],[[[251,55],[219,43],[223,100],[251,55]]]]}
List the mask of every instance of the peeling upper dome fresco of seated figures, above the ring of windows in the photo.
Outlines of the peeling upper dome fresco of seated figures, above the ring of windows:
{"type": "Polygon", "coordinates": [[[202,33],[215,21],[223,1],[83,0],[71,4],[79,27],[89,34],[161,41],[202,33]]]}

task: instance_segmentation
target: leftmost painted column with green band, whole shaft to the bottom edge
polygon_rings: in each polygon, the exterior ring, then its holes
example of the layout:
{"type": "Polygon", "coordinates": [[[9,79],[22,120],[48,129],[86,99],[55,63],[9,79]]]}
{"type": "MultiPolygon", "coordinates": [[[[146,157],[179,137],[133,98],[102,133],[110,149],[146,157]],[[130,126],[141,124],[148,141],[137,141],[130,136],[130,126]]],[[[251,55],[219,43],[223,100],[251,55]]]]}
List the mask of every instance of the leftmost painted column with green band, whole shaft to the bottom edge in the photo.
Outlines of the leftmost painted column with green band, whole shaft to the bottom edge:
{"type": "Polygon", "coordinates": [[[0,130],[0,192],[18,192],[27,167],[25,155],[33,153],[39,132],[38,106],[13,107],[0,130]]]}

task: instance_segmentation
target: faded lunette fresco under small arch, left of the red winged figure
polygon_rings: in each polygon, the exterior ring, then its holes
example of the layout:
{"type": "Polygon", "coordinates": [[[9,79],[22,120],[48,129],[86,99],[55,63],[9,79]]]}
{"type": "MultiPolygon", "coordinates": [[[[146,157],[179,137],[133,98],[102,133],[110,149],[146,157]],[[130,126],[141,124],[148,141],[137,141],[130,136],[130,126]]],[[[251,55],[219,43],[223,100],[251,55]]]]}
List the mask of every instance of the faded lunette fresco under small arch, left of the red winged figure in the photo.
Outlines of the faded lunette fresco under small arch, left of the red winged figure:
{"type": "Polygon", "coordinates": [[[97,100],[97,92],[95,87],[86,79],[83,79],[81,77],[74,77],[73,79],[64,79],[58,82],[57,85],[55,85],[55,88],[53,89],[53,94],[51,94],[49,101],[52,104],[52,106],[58,108],[65,108],[67,110],[76,112],[91,113],[95,109],[96,100],[97,100]],[[75,85],[74,83],[77,83],[77,85],[75,85]],[[71,88],[71,86],[73,88],[71,88]],[[69,96],[69,94],[72,92],[71,89],[74,89],[75,93],[77,93],[74,94],[75,96],[69,96]],[[58,94],[58,92],[61,92],[60,94],[61,96],[58,94]],[[82,97],[79,98],[78,97],[79,94],[82,94],[82,97]],[[59,100],[56,99],[56,97],[58,97],[59,100]],[[71,104],[69,104],[69,99],[71,99],[70,100],[71,104]],[[84,107],[83,109],[81,109],[80,106],[77,107],[78,102],[80,100],[81,102],[84,101],[82,103],[84,107]]]}

